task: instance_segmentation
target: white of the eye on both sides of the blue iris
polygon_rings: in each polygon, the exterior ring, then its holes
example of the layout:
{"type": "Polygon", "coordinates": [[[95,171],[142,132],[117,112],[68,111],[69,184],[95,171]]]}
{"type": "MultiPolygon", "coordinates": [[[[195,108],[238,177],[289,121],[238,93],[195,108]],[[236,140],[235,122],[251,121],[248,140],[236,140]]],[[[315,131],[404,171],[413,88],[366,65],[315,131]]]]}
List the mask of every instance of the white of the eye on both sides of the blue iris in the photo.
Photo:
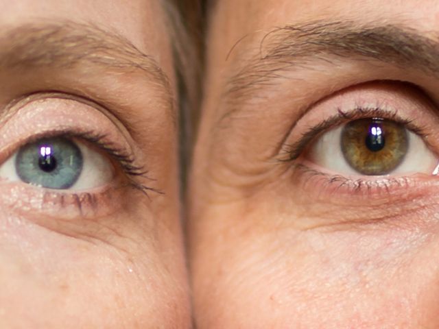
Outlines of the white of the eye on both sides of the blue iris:
{"type": "MultiPolygon", "coordinates": [[[[93,151],[82,143],[75,142],[82,153],[82,171],[78,180],[69,188],[70,190],[86,190],[108,184],[115,175],[115,169],[105,156],[93,151]]],[[[16,173],[15,152],[0,166],[0,179],[10,182],[20,182],[21,178],[16,173]]]]}

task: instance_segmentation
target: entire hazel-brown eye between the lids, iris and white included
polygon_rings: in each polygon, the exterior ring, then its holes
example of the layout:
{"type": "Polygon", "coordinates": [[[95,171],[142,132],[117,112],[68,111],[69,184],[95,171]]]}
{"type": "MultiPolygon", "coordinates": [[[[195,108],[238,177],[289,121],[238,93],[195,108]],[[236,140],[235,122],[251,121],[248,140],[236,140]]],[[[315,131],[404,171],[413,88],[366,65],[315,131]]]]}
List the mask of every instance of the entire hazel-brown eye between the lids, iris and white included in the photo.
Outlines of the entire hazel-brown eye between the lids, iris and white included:
{"type": "Polygon", "coordinates": [[[308,160],[346,175],[433,173],[438,157],[423,138],[395,121],[357,119],[324,132],[308,160]]]}

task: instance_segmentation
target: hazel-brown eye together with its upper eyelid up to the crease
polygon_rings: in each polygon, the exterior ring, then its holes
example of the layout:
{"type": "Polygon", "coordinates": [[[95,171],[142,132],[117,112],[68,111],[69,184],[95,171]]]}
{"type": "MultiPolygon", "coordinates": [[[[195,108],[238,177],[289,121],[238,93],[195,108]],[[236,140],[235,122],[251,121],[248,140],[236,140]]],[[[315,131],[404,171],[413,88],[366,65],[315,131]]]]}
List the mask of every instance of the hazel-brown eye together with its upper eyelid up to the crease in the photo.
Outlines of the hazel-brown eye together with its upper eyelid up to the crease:
{"type": "Polygon", "coordinates": [[[389,80],[339,90],[302,114],[282,150],[287,160],[331,181],[436,175],[438,104],[425,90],[389,80]]]}

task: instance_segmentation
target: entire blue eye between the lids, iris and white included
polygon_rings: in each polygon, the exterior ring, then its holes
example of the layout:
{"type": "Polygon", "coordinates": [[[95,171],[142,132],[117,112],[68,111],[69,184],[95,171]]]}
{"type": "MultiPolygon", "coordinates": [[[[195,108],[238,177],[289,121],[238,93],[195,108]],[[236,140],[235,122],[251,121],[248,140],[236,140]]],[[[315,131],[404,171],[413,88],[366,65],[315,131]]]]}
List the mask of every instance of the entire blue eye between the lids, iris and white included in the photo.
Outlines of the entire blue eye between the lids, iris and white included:
{"type": "Polygon", "coordinates": [[[112,161],[80,138],[40,138],[0,165],[0,179],[57,190],[88,190],[115,177],[112,161]]]}

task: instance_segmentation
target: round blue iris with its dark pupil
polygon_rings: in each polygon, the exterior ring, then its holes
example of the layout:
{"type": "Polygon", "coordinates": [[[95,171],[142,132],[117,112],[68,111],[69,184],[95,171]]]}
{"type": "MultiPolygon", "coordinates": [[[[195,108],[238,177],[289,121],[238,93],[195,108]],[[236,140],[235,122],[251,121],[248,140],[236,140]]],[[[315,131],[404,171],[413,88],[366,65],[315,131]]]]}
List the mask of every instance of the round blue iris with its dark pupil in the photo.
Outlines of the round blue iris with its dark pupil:
{"type": "Polygon", "coordinates": [[[46,188],[70,188],[82,171],[82,153],[66,138],[43,138],[21,147],[15,170],[23,182],[46,188]]]}

